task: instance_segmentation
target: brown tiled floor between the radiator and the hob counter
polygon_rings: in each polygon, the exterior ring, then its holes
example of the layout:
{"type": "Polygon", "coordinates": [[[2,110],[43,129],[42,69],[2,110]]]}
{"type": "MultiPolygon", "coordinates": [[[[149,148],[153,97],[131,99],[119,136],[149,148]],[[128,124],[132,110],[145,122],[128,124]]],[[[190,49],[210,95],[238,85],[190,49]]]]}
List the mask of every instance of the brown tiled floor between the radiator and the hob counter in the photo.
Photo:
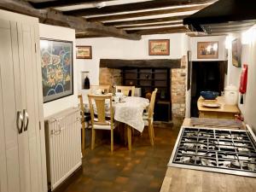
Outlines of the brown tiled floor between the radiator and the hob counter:
{"type": "MultiPolygon", "coordinates": [[[[151,147],[148,131],[133,137],[132,151],[119,143],[102,143],[86,151],[83,174],[65,192],[158,192],[166,173],[166,164],[177,138],[180,123],[173,127],[155,127],[151,147]]],[[[147,128],[145,128],[147,129],[147,128]]]]}

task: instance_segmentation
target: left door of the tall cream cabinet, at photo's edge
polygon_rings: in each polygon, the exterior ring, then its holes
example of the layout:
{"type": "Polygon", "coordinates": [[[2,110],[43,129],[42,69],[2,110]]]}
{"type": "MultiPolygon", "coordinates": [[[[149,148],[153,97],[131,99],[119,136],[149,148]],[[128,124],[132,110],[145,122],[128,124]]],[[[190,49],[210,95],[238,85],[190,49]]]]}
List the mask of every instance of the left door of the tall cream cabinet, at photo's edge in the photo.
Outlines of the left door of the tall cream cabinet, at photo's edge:
{"type": "MultiPolygon", "coordinates": [[[[20,192],[18,131],[16,129],[14,60],[11,25],[0,20],[0,180],[1,192],[20,192]]],[[[15,42],[13,42],[15,44],[15,42]]],[[[18,46],[17,44],[15,46],[18,46]]]]}

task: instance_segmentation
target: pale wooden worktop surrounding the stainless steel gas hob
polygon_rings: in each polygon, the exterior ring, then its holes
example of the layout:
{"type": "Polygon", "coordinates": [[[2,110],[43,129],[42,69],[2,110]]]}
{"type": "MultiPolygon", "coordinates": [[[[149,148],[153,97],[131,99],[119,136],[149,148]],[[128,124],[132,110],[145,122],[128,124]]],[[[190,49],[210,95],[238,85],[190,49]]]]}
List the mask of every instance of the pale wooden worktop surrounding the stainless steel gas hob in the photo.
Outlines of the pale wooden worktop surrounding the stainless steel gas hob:
{"type": "MultiPolygon", "coordinates": [[[[183,125],[190,126],[190,119],[183,125]]],[[[160,192],[256,192],[256,178],[167,167],[160,192]]]]}

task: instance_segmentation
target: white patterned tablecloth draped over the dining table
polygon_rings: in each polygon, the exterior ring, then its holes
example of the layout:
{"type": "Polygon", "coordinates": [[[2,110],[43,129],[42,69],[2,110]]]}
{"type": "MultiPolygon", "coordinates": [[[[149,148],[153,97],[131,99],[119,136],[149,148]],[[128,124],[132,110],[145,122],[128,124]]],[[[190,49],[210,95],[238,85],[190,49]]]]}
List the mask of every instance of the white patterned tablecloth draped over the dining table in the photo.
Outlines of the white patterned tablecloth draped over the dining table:
{"type": "MultiPolygon", "coordinates": [[[[113,103],[113,119],[130,125],[137,131],[144,129],[143,110],[149,105],[148,99],[137,96],[125,97],[125,102],[113,103]]],[[[85,111],[89,112],[88,101],[84,102],[85,111]]],[[[107,113],[107,112],[106,112],[107,113]]]]}

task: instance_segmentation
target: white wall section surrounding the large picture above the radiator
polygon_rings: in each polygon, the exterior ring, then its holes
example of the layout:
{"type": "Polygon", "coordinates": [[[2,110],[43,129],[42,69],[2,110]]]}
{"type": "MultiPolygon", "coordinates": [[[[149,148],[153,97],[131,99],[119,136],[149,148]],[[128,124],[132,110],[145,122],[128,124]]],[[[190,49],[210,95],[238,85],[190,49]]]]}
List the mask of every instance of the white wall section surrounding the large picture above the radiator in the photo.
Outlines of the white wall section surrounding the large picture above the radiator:
{"type": "Polygon", "coordinates": [[[77,83],[77,61],[75,54],[75,31],[61,26],[39,25],[40,38],[50,38],[73,42],[73,95],[66,96],[53,102],[44,103],[44,117],[58,113],[64,109],[77,107],[78,105],[78,83],[77,83]]]}

